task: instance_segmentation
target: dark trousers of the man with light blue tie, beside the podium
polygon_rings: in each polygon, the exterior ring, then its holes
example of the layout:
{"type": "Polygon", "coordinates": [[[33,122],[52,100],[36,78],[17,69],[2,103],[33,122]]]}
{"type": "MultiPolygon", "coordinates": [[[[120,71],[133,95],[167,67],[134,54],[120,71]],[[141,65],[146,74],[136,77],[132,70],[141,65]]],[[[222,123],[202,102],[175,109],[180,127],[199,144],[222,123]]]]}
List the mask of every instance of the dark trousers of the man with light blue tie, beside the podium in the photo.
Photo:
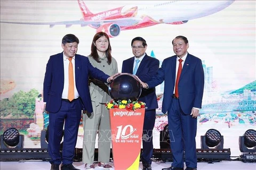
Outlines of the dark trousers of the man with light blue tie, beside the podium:
{"type": "Polygon", "coordinates": [[[145,111],[143,134],[142,134],[142,147],[141,153],[142,164],[150,164],[153,156],[153,128],[156,120],[156,109],[145,111]]]}

